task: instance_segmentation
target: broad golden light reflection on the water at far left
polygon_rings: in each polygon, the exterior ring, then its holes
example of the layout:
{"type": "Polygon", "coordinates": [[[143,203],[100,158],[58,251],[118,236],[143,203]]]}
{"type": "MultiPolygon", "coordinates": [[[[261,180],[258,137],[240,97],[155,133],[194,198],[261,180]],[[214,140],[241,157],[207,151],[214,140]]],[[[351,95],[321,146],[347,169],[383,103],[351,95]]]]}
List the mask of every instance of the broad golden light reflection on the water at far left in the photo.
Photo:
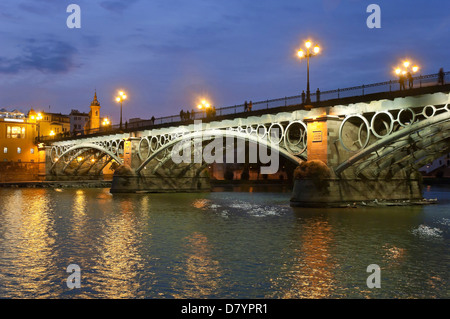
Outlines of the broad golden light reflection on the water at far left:
{"type": "Polygon", "coordinates": [[[1,240],[3,284],[10,297],[40,298],[52,289],[55,232],[46,190],[18,190],[3,199],[1,240]]]}

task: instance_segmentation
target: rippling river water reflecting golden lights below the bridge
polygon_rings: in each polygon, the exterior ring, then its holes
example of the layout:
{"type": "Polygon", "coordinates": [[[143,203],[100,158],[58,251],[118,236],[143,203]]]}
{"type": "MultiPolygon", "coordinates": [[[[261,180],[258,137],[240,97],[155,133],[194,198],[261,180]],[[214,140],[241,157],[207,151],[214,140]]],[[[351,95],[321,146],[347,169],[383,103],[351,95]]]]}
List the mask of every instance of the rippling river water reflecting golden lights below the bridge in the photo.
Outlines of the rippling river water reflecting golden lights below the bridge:
{"type": "Polygon", "coordinates": [[[1,298],[449,298],[438,204],[291,208],[290,189],[0,189],[1,298]],[[80,267],[69,289],[67,267],[80,267]],[[369,288],[371,264],[381,288],[369,288]]]}

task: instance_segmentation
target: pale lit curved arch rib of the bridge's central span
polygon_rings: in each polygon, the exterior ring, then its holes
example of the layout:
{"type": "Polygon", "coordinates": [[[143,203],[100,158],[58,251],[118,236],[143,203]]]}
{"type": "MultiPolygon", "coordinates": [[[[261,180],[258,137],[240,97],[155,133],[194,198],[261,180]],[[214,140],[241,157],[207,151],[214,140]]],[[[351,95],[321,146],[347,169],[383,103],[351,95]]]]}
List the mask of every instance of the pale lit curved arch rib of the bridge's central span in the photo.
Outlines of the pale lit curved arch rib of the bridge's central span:
{"type": "MultiPolygon", "coordinates": [[[[166,143],[164,146],[160,147],[158,150],[156,150],[154,153],[152,153],[149,157],[147,157],[144,162],[136,169],[136,173],[140,174],[141,170],[144,169],[144,167],[150,163],[151,160],[155,159],[161,152],[167,150],[168,148],[174,146],[175,144],[182,142],[184,140],[191,140],[196,138],[201,138],[203,136],[210,136],[210,137],[236,137],[239,139],[243,139],[245,141],[254,142],[257,144],[263,144],[268,148],[274,148],[274,143],[267,142],[265,139],[258,138],[258,136],[255,135],[249,135],[243,132],[233,131],[233,130],[218,130],[218,129],[212,129],[207,131],[197,131],[193,133],[188,133],[185,135],[182,135],[179,138],[173,139],[170,142],[166,143]]],[[[278,144],[277,144],[278,145],[278,144]]],[[[299,164],[304,160],[304,158],[299,158],[297,156],[292,155],[287,150],[285,150],[282,147],[277,147],[278,151],[281,155],[283,155],[285,158],[291,160],[292,162],[299,164]]]]}

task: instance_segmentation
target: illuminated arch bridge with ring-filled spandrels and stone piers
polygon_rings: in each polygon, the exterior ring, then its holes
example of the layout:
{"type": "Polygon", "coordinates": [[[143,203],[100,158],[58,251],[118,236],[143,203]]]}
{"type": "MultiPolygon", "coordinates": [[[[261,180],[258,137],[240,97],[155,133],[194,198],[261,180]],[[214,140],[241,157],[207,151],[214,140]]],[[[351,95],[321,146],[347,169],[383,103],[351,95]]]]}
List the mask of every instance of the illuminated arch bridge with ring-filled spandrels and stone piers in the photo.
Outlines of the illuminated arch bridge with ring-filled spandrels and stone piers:
{"type": "Polygon", "coordinates": [[[172,150],[191,143],[194,157],[194,141],[210,136],[262,144],[298,165],[292,205],[420,200],[418,169],[450,152],[449,91],[443,85],[48,141],[47,179],[110,170],[111,192],[206,190],[209,163],[175,163],[172,150]]]}

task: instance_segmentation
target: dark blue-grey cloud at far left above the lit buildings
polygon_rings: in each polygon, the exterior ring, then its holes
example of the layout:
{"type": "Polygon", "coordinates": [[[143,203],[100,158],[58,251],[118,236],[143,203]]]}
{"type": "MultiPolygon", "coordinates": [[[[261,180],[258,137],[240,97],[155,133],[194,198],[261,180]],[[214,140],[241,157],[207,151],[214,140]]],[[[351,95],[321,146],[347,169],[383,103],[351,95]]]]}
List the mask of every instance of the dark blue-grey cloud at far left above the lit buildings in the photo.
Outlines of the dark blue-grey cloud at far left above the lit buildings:
{"type": "Polygon", "coordinates": [[[66,73],[75,67],[74,57],[77,50],[68,43],[59,40],[47,40],[24,47],[20,56],[9,59],[0,57],[0,73],[18,74],[22,71],[40,71],[43,73],[66,73]]]}

